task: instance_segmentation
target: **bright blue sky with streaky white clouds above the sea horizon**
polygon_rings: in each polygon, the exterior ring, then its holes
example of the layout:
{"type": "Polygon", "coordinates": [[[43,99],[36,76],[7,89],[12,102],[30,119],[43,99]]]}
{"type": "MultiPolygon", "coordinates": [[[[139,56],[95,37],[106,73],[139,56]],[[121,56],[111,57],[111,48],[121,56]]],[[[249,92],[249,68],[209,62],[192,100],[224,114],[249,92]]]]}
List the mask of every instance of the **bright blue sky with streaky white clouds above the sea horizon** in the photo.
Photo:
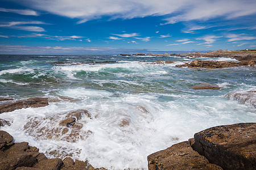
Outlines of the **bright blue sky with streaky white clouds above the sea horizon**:
{"type": "Polygon", "coordinates": [[[255,0],[0,0],[0,54],[256,48],[255,0]]]}

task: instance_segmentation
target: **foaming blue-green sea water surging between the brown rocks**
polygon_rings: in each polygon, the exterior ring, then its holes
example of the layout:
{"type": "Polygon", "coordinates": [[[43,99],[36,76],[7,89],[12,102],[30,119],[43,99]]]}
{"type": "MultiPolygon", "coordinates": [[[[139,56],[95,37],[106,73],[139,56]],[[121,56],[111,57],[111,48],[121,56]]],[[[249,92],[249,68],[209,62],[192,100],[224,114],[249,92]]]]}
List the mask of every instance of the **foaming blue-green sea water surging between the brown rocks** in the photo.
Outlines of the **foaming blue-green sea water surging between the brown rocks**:
{"type": "MultiPolygon", "coordinates": [[[[2,55],[0,97],[48,97],[49,105],[0,114],[1,130],[48,158],[88,160],[93,167],[147,169],[147,156],[217,125],[255,122],[251,105],[226,99],[256,89],[255,67],[175,67],[195,58],[114,55],[2,55]],[[154,61],[171,64],[151,64],[154,61]],[[220,90],[193,90],[199,83],[220,90]],[[61,100],[60,96],[73,100],[61,100]],[[60,99],[60,100],[53,100],[60,99]],[[70,98],[71,99],[71,98],[70,98]],[[86,109],[82,128],[62,131],[67,112],[86,109]],[[58,131],[59,130],[59,131],[58,131]],[[74,133],[75,136],[72,136],[74,133]],[[67,135],[68,134],[68,135],[67,135]]],[[[197,58],[236,61],[231,58],[197,58]]]]}

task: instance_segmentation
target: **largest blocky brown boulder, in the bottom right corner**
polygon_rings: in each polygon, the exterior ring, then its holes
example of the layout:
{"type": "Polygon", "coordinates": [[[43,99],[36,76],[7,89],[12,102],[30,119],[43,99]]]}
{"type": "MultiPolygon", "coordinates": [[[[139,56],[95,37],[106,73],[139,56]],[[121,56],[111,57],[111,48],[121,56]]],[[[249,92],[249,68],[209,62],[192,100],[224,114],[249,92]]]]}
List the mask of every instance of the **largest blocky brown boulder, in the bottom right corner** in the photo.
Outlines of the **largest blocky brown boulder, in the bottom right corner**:
{"type": "Polygon", "coordinates": [[[193,149],[224,169],[256,169],[256,123],[209,128],[194,135],[193,149]]]}

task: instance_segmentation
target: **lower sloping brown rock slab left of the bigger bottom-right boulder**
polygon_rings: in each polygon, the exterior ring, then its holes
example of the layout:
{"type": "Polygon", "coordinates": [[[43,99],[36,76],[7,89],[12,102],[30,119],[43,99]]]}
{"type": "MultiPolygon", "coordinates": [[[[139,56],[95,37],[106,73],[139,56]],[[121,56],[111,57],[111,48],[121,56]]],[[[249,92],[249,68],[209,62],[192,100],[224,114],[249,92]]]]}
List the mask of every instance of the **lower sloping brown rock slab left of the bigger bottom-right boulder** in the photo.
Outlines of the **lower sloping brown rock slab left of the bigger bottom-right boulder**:
{"type": "Polygon", "coordinates": [[[222,169],[210,164],[204,156],[193,151],[189,143],[181,142],[166,150],[147,156],[148,169],[222,169]]]}

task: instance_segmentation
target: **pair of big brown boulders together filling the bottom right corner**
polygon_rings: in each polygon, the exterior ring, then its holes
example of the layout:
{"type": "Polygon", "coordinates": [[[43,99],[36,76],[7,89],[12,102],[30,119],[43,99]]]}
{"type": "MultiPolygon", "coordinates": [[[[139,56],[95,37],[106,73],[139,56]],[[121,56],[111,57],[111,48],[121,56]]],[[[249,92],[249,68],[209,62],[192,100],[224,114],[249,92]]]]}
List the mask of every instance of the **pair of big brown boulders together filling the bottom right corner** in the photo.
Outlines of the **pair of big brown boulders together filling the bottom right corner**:
{"type": "Polygon", "coordinates": [[[148,169],[256,169],[255,128],[256,123],[241,123],[200,131],[149,155],[148,169]]]}

